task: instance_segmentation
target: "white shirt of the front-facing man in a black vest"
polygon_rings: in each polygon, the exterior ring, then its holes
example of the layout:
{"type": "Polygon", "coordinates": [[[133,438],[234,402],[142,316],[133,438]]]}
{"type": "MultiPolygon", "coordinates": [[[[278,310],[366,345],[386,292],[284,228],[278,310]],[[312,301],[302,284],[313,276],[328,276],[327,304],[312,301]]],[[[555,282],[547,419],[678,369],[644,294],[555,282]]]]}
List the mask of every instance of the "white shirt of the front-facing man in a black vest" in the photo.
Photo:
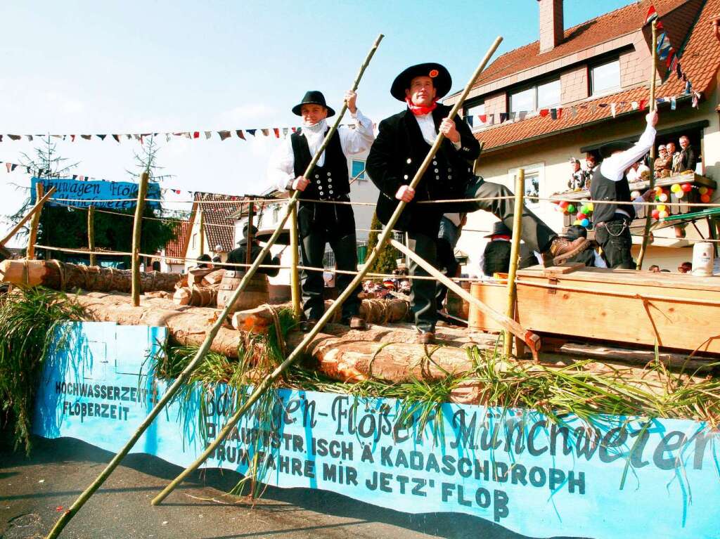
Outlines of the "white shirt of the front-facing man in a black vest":
{"type": "MultiPolygon", "coordinates": [[[[364,116],[359,109],[355,111],[355,114],[351,114],[351,117],[355,122],[355,129],[338,127],[340,146],[345,155],[362,153],[370,148],[373,140],[375,140],[375,135],[372,132],[372,121],[369,118],[364,116]]],[[[315,154],[318,153],[320,146],[323,144],[325,130],[318,136],[314,136],[315,134],[312,133],[306,134],[305,130],[302,130],[300,135],[307,138],[307,147],[310,149],[310,155],[315,157],[315,154]]],[[[318,166],[323,166],[324,164],[325,152],[318,158],[318,166]]],[[[270,184],[276,189],[279,189],[279,191],[287,191],[288,182],[296,178],[294,165],[295,156],[292,153],[292,142],[290,141],[290,137],[286,137],[284,143],[271,155],[267,169],[270,184]]]]}

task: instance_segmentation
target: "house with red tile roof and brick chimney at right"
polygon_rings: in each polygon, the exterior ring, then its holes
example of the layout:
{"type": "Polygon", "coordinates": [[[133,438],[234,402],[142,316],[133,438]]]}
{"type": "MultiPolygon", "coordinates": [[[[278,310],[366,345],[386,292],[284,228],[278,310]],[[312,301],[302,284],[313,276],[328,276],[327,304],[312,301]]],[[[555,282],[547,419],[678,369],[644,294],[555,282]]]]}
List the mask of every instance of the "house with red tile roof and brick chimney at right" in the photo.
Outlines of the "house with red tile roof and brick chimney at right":
{"type": "MultiPolygon", "coordinates": [[[[483,144],[478,174],[513,189],[513,175],[524,168],[527,194],[546,199],[567,190],[571,158],[584,161],[586,152],[612,140],[637,140],[654,73],[656,97],[663,101],[657,143],[673,140],[677,145],[678,137],[687,135],[702,155],[699,172],[720,181],[720,0],[636,1],[568,29],[562,0],[536,5],[539,40],[495,59],[464,104],[464,116],[472,118],[467,121],[483,144]],[[689,94],[686,81],[669,73],[665,61],[653,69],[651,30],[645,24],[651,4],[692,84],[689,94]]],[[[457,96],[445,103],[453,104],[457,96]]],[[[563,217],[554,204],[530,201],[528,206],[562,231],[563,217]]],[[[475,212],[467,230],[490,230],[493,220],[486,212],[475,212]]],[[[482,235],[465,232],[460,240],[471,266],[482,252],[482,235]]],[[[693,235],[699,237],[688,227],[688,240],[693,235]]],[[[639,243],[641,237],[635,240],[639,243]]],[[[645,266],[658,263],[674,271],[678,261],[692,258],[688,240],[675,238],[672,227],[657,232],[645,266]]]]}

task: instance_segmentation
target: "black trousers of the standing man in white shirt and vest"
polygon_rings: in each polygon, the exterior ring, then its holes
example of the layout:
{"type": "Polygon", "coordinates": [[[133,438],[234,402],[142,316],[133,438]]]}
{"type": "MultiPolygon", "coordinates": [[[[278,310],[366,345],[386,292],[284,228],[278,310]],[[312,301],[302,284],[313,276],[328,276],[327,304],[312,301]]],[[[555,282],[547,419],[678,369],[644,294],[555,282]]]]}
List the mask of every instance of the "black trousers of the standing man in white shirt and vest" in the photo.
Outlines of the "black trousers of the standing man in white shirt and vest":
{"type": "MultiPolygon", "coordinates": [[[[297,211],[297,226],[300,232],[300,258],[302,266],[323,267],[325,245],[335,254],[338,270],[356,271],[358,266],[355,217],[350,206],[340,204],[300,204],[297,211]]],[[[336,287],[342,291],[353,280],[354,275],[338,273],[336,287]]],[[[319,320],[325,312],[323,272],[300,271],[302,289],[302,311],[306,320],[319,320]]],[[[361,287],[357,286],[342,307],[342,317],[358,314],[361,287]]]]}

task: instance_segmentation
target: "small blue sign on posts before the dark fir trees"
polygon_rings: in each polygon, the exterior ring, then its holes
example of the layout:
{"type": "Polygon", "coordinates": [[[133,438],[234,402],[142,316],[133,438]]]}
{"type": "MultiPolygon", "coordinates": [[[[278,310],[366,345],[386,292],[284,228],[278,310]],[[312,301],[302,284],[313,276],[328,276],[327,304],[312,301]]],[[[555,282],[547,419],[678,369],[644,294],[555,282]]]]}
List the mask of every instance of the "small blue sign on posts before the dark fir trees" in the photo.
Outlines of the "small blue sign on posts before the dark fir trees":
{"type": "MultiPolygon", "coordinates": [[[[65,199],[63,202],[48,201],[49,206],[75,206],[86,208],[131,209],[138,202],[138,184],[132,181],[80,181],[72,178],[32,178],[30,186],[30,203],[35,204],[35,184],[40,182],[47,193],[55,187],[52,199],[65,199]],[[69,200],[69,201],[68,201],[69,200]],[[113,202],[102,202],[113,200],[113,202]]],[[[160,199],[160,184],[148,184],[148,199],[160,199]]],[[[157,208],[160,202],[146,201],[150,208],[157,208]]]]}

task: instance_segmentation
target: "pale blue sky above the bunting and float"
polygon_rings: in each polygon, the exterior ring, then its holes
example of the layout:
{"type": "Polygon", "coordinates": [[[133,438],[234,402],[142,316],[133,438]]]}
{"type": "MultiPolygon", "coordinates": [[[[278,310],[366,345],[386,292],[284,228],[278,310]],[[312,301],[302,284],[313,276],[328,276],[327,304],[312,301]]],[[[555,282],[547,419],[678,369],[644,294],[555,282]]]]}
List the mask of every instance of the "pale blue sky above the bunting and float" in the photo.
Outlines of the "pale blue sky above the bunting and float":
{"type": "MultiPolygon", "coordinates": [[[[566,0],[565,27],[628,4],[566,0]]],[[[19,1],[0,4],[0,132],[112,133],[287,127],[307,89],[340,106],[359,65],[385,38],[359,89],[374,121],[400,110],[392,78],[438,61],[461,89],[497,35],[498,54],[538,36],[536,0],[418,1],[19,1]]],[[[279,142],[233,137],[162,142],[164,186],[257,193],[279,142]]],[[[1,142],[0,160],[19,160],[27,142],[1,142]]],[[[137,143],[59,142],[77,173],[127,179],[137,143]]],[[[0,171],[0,214],[22,200],[0,171]]],[[[187,197],[184,193],[183,198],[187,197]]],[[[4,229],[0,225],[0,229],[4,229]]]]}

